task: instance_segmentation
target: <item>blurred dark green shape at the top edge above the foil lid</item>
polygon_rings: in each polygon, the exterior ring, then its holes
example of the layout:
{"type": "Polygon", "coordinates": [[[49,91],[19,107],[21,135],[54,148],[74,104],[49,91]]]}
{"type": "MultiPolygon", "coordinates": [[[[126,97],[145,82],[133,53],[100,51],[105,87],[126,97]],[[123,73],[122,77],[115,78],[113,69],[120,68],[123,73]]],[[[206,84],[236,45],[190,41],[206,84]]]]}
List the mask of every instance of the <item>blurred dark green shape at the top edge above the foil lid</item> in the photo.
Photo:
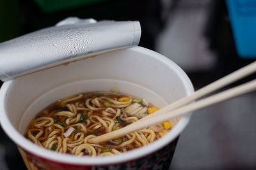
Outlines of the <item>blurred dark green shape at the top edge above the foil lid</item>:
{"type": "Polygon", "coordinates": [[[45,12],[68,10],[81,5],[99,3],[109,0],[34,0],[36,4],[45,12]]]}

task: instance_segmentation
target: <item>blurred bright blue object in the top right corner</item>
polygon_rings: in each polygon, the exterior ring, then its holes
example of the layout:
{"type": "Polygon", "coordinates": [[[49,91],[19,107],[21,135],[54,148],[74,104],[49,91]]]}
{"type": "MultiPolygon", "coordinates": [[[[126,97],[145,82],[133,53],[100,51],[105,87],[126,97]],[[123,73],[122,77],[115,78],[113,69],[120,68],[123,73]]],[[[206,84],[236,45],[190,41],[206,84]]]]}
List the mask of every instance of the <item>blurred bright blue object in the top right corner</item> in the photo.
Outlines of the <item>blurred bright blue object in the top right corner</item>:
{"type": "Polygon", "coordinates": [[[256,58],[256,1],[226,0],[237,53],[246,59],[256,58]]]}

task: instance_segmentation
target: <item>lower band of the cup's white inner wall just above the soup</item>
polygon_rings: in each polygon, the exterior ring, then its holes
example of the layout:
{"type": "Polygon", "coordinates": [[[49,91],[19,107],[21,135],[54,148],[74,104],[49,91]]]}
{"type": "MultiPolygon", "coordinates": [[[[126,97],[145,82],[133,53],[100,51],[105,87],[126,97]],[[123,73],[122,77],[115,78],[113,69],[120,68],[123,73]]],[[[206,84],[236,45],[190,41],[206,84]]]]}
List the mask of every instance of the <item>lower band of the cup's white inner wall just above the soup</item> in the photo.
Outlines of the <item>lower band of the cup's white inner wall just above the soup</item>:
{"type": "MultiPolygon", "coordinates": [[[[82,92],[110,92],[110,89],[115,86],[118,87],[120,92],[124,94],[129,94],[131,96],[143,96],[143,98],[147,99],[148,102],[154,103],[160,108],[167,104],[164,99],[162,99],[152,90],[146,89],[145,87],[131,82],[111,79],[75,81],[49,90],[49,92],[46,92],[42,96],[38,97],[31,105],[29,105],[28,109],[26,109],[20,118],[18,131],[20,134],[24,134],[26,127],[28,127],[31,119],[36,116],[36,113],[39,113],[42,108],[49,106],[49,104],[54,103],[59,99],[82,92]]],[[[177,121],[172,120],[172,122],[174,125],[177,121]]]]}

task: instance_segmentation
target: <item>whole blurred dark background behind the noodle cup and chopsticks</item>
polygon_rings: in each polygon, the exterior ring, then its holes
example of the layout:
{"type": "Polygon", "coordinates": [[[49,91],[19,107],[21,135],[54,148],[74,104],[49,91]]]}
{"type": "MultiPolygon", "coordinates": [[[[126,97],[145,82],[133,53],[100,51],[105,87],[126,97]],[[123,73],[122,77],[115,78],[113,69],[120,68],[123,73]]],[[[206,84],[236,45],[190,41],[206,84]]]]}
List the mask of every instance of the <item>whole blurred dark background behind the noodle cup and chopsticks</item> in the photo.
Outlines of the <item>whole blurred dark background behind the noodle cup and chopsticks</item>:
{"type": "MultiPolygon", "coordinates": [[[[254,0],[0,0],[0,42],[67,17],[139,20],[140,46],[176,62],[195,90],[256,59],[254,0]]],[[[170,169],[256,169],[255,122],[255,92],[195,111],[170,169]]],[[[26,169],[3,130],[0,169],[26,169]]]]}

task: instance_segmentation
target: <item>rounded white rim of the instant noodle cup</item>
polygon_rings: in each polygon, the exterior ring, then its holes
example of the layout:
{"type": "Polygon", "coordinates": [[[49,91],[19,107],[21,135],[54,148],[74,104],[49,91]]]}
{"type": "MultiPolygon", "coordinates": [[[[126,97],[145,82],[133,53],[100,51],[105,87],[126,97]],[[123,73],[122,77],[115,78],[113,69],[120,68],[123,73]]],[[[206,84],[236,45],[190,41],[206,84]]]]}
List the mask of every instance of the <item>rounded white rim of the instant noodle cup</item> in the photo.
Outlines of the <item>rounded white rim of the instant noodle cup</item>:
{"type": "MultiPolygon", "coordinates": [[[[172,69],[177,71],[177,74],[182,78],[182,81],[185,85],[186,94],[192,94],[194,92],[193,85],[189,80],[188,76],[184,71],[177,66],[172,60],[167,59],[163,55],[154,52],[152,50],[148,50],[147,48],[143,48],[140,46],[127,48],[128,50],[133,50],[138,53],[148,53],[148,57],[156,57],[155,59],[160,62],[166,63],[172,69]]],[[[125,49],[125,50],[127,50],[125,49]]],[[[127,162],[129,160],[140,159],[141,157],[145,157],[150,153],[156,152],[157,150],[163,148],[168,145],[168,143],[172,142],[177,136],[179,136],[180,132],[184,130],[184,128],[188,125],[191,114],[181,117],[177,125],[172,128],[172,131],[168,132],[163,138],[157,139],[154,143],[150,143],[147,146],[143,146],[141,148],[136,148],[135,150],[131,150],[129,152],[120,153],[118,155],[111,155],[108,157],[77,157],[76,155],[68,155],[58,152],[52,152],[51,150],[47,150],[42,148],[34,143],[31,143],[28,139],[26,139],[22,134],[20,134],[15,127],[13,127],[12,123],[8,119],[8,115],[5,111],[5,97],[8,94],[8,90],[12,86],[14,80],[5,81],[0,89],[0,123],[3,130],[6,134],[16,143],[16,145],[20,146],[20,148],[26,150],[37,157],[41,157],[43,159],[52,160],[54,162],[60,162],[64,164],[76,164],[76,165],[109,165],[109,164],[120,164],[122,162],[127,162]]]]}

